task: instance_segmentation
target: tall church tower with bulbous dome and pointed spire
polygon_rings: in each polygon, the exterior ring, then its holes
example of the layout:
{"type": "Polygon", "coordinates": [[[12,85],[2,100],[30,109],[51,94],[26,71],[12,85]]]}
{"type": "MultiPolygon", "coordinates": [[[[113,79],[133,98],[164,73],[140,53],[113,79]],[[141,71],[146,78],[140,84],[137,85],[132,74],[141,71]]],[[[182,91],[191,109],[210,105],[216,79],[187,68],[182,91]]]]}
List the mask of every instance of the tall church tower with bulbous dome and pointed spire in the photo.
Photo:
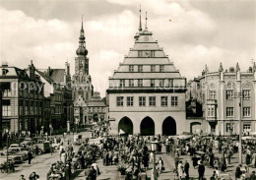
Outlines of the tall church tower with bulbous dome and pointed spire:
{"type": "Polygon", "coordinates": [[[79,36],[79,47],[76,51],[77,57],[75,58],[75,74],[72,77],[73,86],[73,100],[78,100],[79,98],[84,101],[89,101],[94,93],[94,87],[92,85],[92,78],[89,74],[89,58],[88,50],[86,48],[86,37],[85,30],[82,26],[79,36]]]}

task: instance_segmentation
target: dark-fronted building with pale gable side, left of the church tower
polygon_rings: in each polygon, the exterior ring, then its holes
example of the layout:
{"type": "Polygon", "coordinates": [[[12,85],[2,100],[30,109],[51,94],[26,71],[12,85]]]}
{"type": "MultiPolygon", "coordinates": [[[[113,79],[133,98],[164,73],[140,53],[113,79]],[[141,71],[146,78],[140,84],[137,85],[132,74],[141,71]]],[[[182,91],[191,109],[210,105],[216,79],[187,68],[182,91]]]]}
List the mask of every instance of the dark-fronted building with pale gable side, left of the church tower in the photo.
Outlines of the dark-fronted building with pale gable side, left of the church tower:
{"type": "Polygon", "coordinates": [[[67,128],[70,131],[74,112],[69,63],[65,63],[65,69],[49,67],[46,71],[36,70],[36,73],[45,84],[44,129],[52,126],[53,130],[67,128]]]}

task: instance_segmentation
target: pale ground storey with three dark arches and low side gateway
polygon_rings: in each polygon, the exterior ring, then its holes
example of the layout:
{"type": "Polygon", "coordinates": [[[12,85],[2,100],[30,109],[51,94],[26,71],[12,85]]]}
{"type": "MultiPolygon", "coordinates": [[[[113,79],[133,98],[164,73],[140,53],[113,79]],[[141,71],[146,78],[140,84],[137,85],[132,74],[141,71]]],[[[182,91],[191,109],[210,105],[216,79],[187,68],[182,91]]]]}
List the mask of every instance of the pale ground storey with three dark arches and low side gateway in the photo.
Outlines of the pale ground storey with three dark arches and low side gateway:
{"type": "Polygon", "coordinates": [[[202,129],[201,122],[186,120],[183,112],[110,112],[109,117],[111,135],[172,136],[200,133],[202,129]]]}

